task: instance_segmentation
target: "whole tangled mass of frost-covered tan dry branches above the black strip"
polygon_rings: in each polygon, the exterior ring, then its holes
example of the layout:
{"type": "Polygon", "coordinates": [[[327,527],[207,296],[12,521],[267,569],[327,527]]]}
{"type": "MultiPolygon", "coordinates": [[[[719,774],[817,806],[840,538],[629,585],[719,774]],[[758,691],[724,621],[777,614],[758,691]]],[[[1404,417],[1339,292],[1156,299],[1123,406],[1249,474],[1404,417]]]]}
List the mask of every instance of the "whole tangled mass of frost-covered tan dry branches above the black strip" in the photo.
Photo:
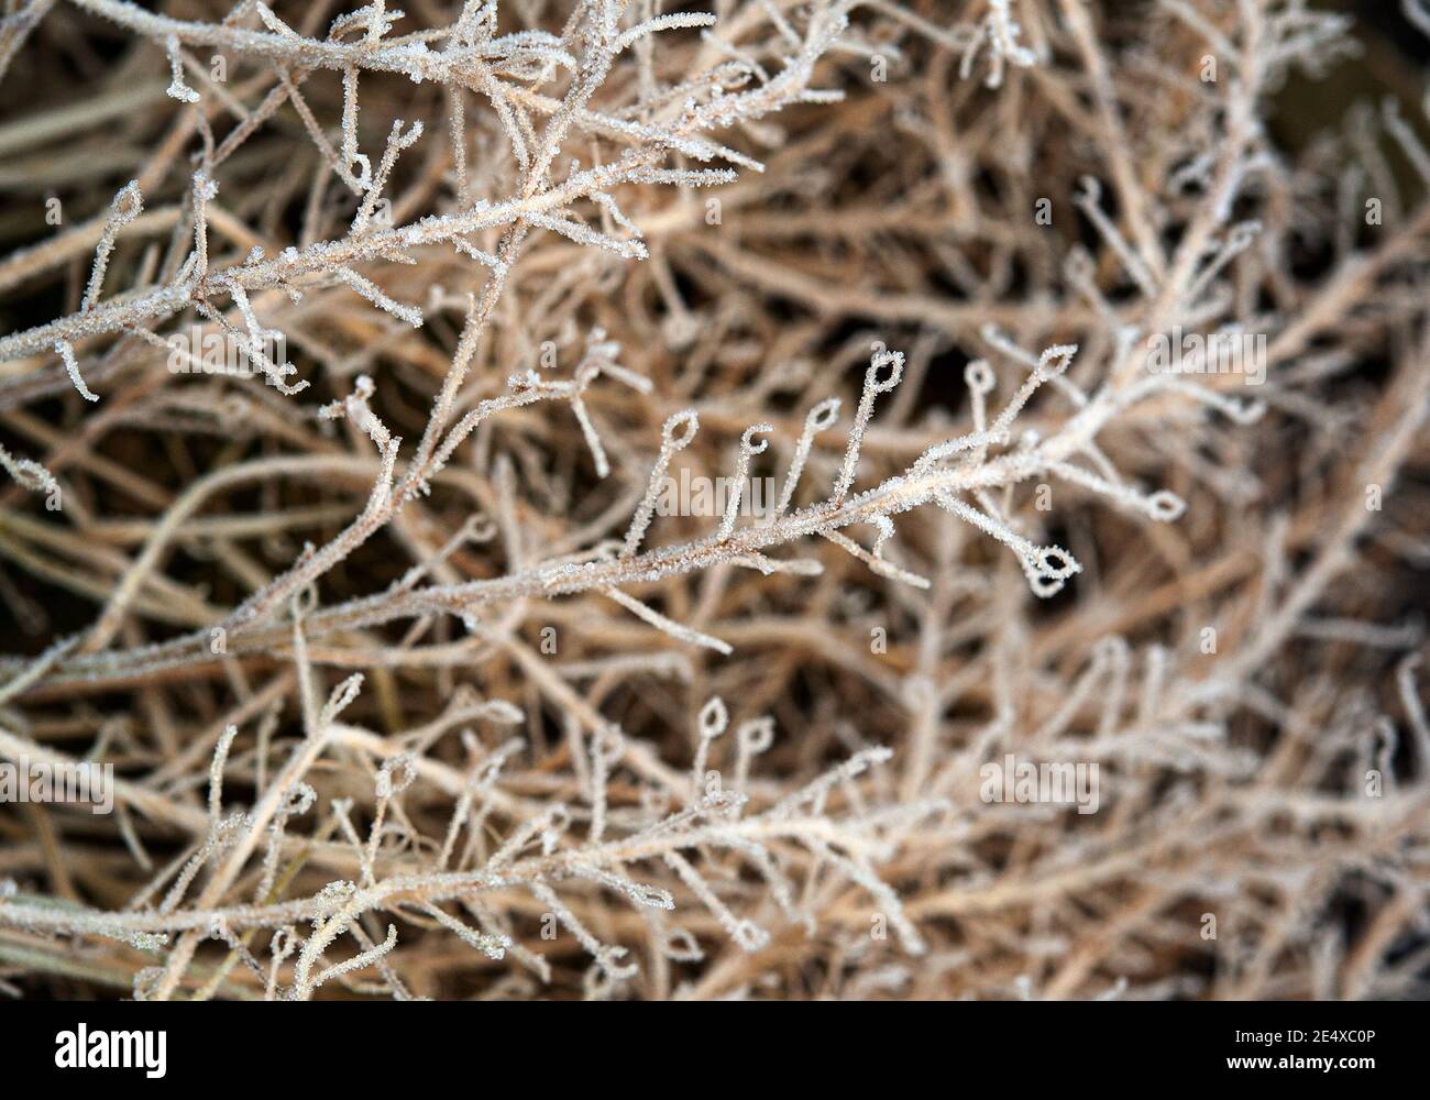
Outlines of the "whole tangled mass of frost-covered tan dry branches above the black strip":
{"type": "Polygon", "coordinates": [[[0,19],[0,758],[114,767],[0,805],[0,988],[1424,993],[1430,97],[1277,109],[1350,20],[157,7],[0,19]]]}

